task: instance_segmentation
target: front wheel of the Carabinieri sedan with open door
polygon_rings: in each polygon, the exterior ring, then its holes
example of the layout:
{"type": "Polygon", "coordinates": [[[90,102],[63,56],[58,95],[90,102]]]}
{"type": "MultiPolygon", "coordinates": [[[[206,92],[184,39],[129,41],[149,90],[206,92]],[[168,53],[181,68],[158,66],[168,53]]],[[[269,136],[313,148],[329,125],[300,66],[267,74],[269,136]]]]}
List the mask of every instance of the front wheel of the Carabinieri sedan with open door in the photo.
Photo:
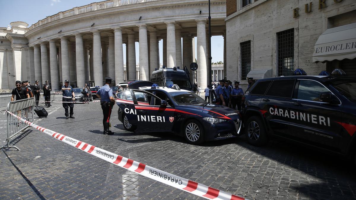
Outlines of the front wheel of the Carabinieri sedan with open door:
{"type": "Polygon", "coordinates": [[[204,129],[196,120],[189,120],[184,124],[183,135],[190,144],[201,144],[204,142],[204,129]]]}

